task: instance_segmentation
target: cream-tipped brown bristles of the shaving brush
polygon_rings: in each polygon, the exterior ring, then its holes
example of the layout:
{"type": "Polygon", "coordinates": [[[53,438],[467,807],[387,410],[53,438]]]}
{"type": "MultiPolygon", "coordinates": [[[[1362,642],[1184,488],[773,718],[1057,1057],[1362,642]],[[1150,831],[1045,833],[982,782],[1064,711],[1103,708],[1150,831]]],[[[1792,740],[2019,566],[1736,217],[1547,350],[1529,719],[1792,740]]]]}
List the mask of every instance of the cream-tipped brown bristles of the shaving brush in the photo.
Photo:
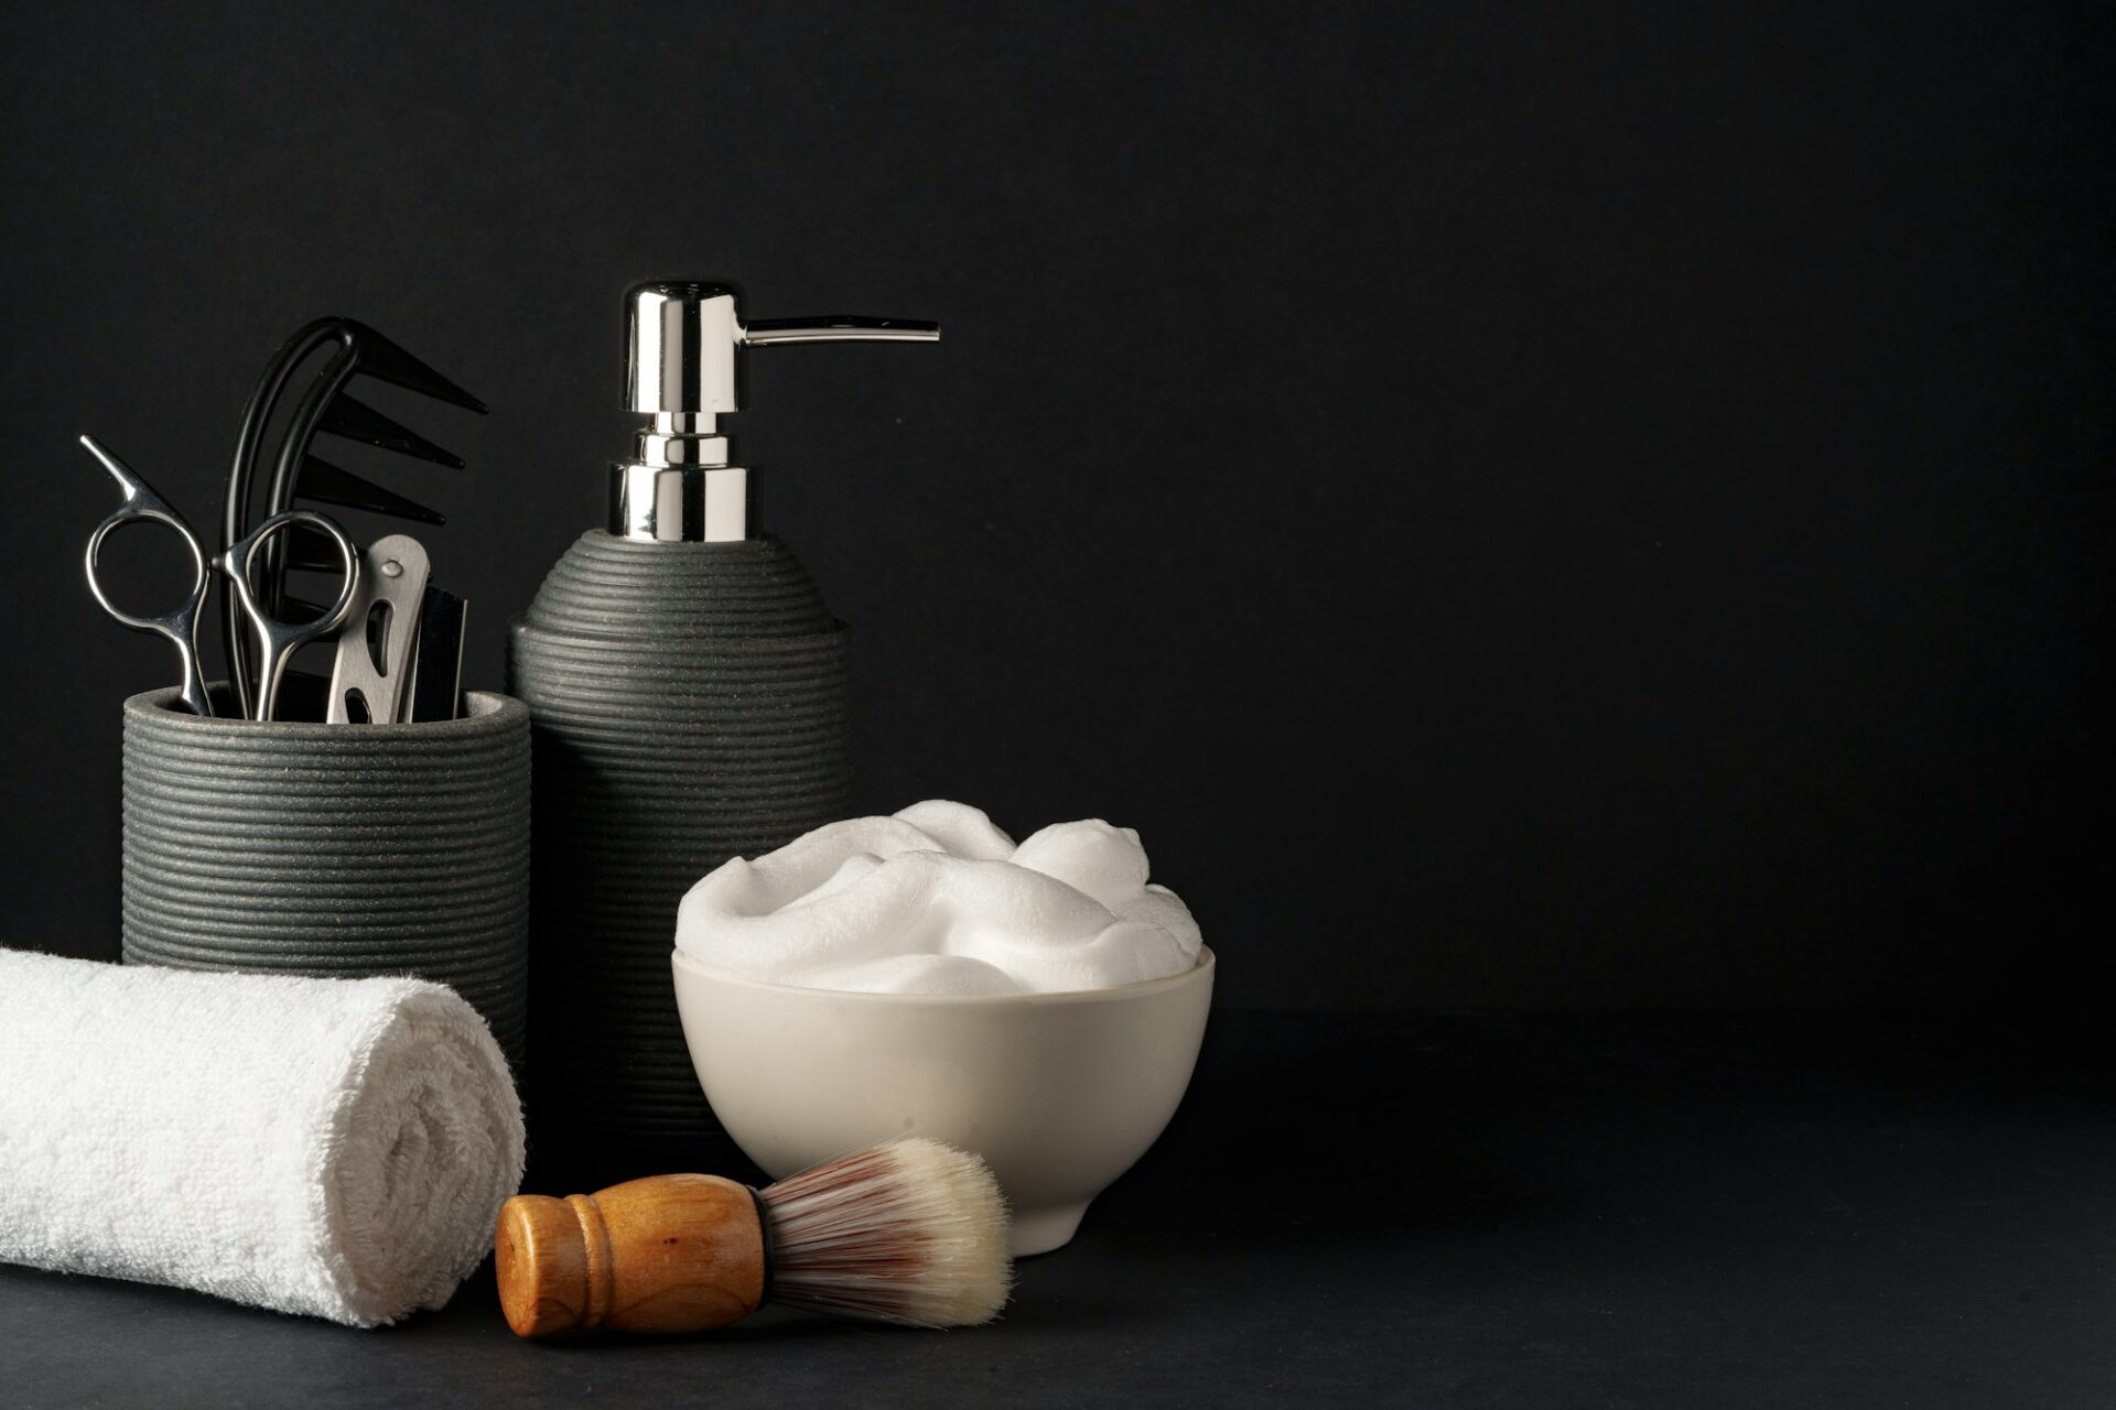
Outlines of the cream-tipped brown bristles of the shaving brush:
{"type": "Polygon", "coordinates": [[[772,1302],[969,1328],[1007,1302],[1007,1203],[978,1156],[904,1137],[764,1190],[772,1302]]]}

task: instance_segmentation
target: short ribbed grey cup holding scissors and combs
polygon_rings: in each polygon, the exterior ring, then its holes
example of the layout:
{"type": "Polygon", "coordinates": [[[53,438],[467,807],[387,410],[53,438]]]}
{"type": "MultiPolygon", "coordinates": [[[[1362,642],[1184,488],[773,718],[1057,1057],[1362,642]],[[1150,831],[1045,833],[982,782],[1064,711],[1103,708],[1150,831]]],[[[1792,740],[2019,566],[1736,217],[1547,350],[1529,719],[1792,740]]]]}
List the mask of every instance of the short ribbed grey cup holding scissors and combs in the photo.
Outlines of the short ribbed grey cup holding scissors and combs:
{"type": "Polygon", "coordinates": [[[125,962],[419,975],[521,1068],[529,708],[419,725],[199,719],[125,702],[125,962]]]}

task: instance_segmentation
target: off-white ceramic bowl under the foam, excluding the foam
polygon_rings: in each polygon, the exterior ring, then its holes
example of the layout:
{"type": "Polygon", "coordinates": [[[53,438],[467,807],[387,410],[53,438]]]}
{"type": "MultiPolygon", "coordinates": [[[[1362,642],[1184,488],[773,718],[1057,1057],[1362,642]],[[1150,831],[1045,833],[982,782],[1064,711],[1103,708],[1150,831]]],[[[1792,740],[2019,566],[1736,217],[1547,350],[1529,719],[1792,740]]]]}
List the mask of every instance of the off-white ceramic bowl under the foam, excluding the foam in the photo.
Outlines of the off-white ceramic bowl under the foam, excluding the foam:
{"type": "Polygon", "coordinates": [[[690,1061],[719,1125],[783,1180],[891,1135],[982,1154],[1043,1254],[1174,1116],[1212,1002],[1212,951],[1081,994],[844,994],[675,951],[690,1061]]]}

